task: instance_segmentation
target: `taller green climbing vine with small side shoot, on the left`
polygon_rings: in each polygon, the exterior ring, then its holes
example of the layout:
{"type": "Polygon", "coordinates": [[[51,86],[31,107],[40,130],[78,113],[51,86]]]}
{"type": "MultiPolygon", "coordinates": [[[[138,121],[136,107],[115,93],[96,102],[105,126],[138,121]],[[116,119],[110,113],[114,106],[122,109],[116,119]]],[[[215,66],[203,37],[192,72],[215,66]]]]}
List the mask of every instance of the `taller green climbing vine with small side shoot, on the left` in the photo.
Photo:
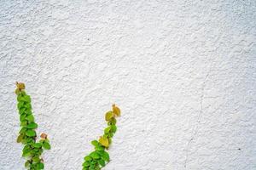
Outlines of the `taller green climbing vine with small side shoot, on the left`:
{"type": "Polygon", "coordinates": [[[22,156],[26,157],[25,167],[29,170],[44,169],[44,160],[42,153],[50,149],[47,134],[42,133],[41,139],[37,142],[37,133],[35,129],[38,124],[32,115],[31,97],[25,92],[25,84],[16,82],[15,94],[17,94],[18,110],[20,114],[20,132],[17,138],[18,143],[24,144],[22,156]]]}

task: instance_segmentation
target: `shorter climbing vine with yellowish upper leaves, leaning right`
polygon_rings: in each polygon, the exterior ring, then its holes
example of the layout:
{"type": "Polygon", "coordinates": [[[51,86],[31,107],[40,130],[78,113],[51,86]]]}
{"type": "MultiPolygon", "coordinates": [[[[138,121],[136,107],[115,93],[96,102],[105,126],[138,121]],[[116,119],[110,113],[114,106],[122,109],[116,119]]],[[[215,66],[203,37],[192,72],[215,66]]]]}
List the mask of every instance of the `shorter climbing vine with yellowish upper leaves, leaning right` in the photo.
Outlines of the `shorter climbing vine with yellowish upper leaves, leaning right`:
{"type": "Polygon", "coordinates": [[[120,110],[116,105],[112,105],[112,111],[108,111],[105,115],[108,127],[105,128],[104,134],[99,140],[91,141],[95,150],[84,157],[83,170],[100,170],[110,161],[106,150],[108,150],[109,145],[112,143],[113,134],[117,130],[115,119],[117,116],[120,116],[120,110]]]}

